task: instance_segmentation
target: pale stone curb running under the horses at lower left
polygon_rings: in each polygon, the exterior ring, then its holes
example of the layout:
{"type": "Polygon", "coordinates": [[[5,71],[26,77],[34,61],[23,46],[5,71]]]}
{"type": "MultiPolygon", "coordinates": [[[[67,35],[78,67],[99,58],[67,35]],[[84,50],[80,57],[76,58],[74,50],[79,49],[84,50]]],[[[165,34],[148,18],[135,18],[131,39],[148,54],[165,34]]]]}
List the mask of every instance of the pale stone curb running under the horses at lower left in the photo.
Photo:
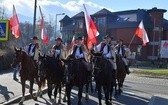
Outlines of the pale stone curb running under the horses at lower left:
{"type": "MultiPolygon", "coordinates": [[[[37,91],[33,92],[33,95],[35,95],[36,93],[37,93],[37,91]]],[[[45,93],[47,93],[47,87],[42,89],[42,94],[45,94],[45,93]]],[[[20,95],[18,97],[14,97],[14,98],[10,99],[9,101],[4,102],[3,105],[11,105],[11,104],[19,103],[21,98],[22,98],[22,95],[20,95]]],[[[25,94],[25,100],[29,100],[29,99],[31,99],[30,93],[25,94]]]]}

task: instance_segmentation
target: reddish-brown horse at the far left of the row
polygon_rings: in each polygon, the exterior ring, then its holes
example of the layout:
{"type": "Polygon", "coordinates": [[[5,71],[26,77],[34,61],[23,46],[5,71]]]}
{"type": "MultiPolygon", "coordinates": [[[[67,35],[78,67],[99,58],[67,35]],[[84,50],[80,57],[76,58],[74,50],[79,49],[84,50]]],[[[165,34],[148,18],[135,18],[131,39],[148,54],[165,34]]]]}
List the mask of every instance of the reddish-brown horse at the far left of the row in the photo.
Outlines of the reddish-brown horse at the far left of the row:
{"type": "MultiPolygon", "coordinates": [[[[39,89],[38,92],[40,93],[41,93],[41,88],[44,86],[42,84],[45,84],[45,81],[40,81],[38,77],[38,70],[35,67],[35,64],[32,58],[21,48],[20,49],[15,48],[15,59],[11,64],[11,66],[15,68],[16,65],[18,65],[19,63],[21,63],[20,80],[22,84],[22,99],[20,100],[19,104],[23,104],[25,100],[25,82],[27,80],[30,81],[29,92],[30,92],[31,98],[34,100],[37,100],[37,96],[33,95],[34,79],[36,79],[36,82],[38,84],[38,89],[39,89]]],[[[38,95],[38,93],[36,95],[38,95]]]]}

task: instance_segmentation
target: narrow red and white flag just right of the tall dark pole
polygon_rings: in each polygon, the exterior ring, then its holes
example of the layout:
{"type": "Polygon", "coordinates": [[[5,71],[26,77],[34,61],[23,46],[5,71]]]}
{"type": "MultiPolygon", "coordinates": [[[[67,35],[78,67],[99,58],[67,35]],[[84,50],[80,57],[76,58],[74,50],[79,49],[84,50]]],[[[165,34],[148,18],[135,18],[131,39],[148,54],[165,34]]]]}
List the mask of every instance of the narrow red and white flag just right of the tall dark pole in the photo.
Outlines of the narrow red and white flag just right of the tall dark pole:
{"type": "Polygon", "coordinates": [[[44,43],[47,44],[48,43],[48,36],[46,33],[46,28],[44,27],[44,18],[43,18],[43,14],[42,14],[40,6],[39,6],[39,10],[40,10],[40,14],[41,14],[41,17],[40,17],[41,39],[43,40],[44,43]]]}

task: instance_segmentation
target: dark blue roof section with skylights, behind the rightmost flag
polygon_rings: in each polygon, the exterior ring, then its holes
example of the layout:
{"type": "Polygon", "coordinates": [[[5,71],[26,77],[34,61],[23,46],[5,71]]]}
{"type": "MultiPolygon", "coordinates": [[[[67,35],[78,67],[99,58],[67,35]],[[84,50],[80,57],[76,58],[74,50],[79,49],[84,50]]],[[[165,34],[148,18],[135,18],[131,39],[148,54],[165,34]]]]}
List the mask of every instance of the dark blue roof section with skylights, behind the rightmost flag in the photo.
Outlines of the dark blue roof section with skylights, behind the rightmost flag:
{"type": "Polygon", "coordinates": [[[117,15],[118,18],[109,24],[109,28],[137,27],[141,20],[143,20],[145,28],[153,28],[151,17],[144,9],[113,12],[113,15],[117,15]]]}

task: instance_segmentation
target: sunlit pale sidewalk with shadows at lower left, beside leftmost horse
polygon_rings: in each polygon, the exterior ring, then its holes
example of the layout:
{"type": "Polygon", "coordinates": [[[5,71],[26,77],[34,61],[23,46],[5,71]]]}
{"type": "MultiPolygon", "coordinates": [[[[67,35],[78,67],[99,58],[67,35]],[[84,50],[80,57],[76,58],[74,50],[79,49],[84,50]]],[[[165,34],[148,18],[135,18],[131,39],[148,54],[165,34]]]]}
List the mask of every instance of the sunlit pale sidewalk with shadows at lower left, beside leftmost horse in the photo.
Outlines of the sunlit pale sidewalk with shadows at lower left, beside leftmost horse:
{"type": "MultiPolygon", "coordinates": [[[[20,77],[18,79],[18,81],[13,80],[12,70],[0,74],[0,104],[22,95],[20,77]]],[[[34,84],[34,89],[37,90],[36,84],[34,84]]],[[[26,82],[26,93],[29,93],[29,81],[26,82]]]]}

